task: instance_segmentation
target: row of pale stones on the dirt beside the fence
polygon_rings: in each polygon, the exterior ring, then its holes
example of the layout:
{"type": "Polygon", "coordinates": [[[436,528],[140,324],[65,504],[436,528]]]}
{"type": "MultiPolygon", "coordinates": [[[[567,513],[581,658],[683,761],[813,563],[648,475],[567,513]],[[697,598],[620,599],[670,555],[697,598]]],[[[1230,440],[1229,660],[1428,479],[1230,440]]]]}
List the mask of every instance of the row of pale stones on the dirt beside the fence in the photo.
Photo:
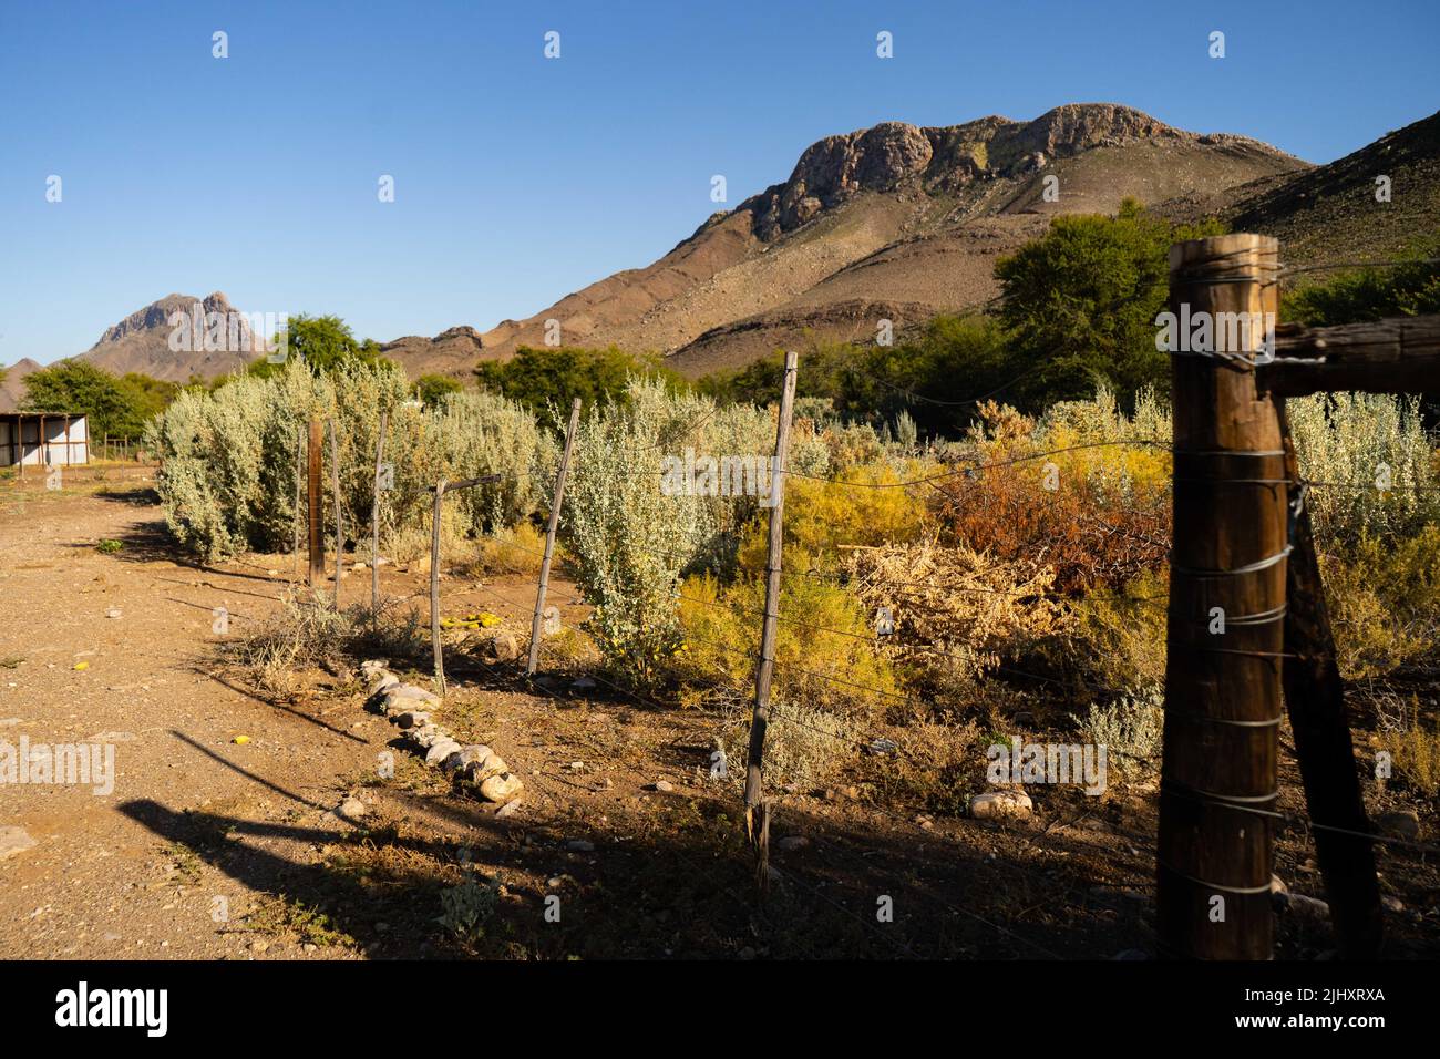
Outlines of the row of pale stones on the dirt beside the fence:
{"type": "Polygon", "coordinates": [[[428,767],[439,768],[456,782],[478,791],[485,801],[500,805],[504,816],[520,805],[524,784],[511,774],[504,758],[484,743],[461,745],[431,719],[431,710],[441,703],[439,696],[423,687],[400,683],[383,661],[366,661],[360,671],[366,680],[373,682],[366,709],[384,715],[392,725],[400,728],[405,741],[425,756],[428,767]]]}

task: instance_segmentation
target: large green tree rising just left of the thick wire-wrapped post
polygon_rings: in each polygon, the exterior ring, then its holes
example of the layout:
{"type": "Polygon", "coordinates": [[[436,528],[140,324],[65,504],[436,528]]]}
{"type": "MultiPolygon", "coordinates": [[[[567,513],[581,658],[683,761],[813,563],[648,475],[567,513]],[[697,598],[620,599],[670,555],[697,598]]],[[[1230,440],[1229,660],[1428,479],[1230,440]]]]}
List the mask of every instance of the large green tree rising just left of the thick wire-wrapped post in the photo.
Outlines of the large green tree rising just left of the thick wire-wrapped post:
{"type": "Polygon", "coordinates": [[[1058,216],[1050,231],[995,264],[999,320],[1017,366],[1021,403],[1090,396],[1097,382],[1125,399],[1166,392],[1169,362],[1155,349],[1155,317],[1169,287],[1171,243],[1218,235],[1220,225],[1171,225],[1133,199],[1113,216],[1058,216]]]}

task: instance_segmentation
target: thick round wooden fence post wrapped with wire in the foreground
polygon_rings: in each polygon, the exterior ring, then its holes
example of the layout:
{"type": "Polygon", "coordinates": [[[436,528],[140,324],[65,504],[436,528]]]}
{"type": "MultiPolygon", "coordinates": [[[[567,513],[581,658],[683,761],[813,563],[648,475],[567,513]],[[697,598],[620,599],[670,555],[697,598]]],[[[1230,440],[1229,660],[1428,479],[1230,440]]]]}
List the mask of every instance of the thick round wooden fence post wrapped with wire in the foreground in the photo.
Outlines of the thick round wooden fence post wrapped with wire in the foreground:
{"type": "Polygon", "coordinates": [[[1289,546],[1280,421],[1253,362],[1276,255],[1259,235],[1171,248],[1175,537],[1156,863],[1166,955],[1272,951],[1289,546]],[[1197,330],[1207,318],[1208,340],[1197,330]]]}

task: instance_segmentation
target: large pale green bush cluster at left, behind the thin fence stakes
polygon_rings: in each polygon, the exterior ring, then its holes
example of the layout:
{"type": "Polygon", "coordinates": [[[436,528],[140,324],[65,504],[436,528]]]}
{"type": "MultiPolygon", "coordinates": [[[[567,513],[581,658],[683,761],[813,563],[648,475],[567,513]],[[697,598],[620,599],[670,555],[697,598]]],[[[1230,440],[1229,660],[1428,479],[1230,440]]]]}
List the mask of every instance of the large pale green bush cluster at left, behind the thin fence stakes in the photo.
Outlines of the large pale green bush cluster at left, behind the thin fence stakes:
{"type": "MultiPolygon", "coordinates": [[[[537,510],[554,473],[556,444],[534,416],[475,392],[422,409],[406,399],[408,389],[393,365],[353,362],[317,376],[297,360],[268,379],[240,375],[213,393],[181,393],[145,439],[164,461],[157,487],[176,539],[206,559],[287,550],[297,517],[301,428],[320,418],[336,429],[346,539],[364,542],[369,555],[382,409],[390,414],[384,461],[395,468],[395,488],[382,499],[382,553],[392,545],[416,550],[429,527],[429,490],[442,477],[503,475],[446,501],[448,516],[451,509],[459,513],[458,523],[446,519],[459,535],[510,526],[537,510]]],[[[323,452],[323,519],[334,548],[328,428],[323,452]]]]}

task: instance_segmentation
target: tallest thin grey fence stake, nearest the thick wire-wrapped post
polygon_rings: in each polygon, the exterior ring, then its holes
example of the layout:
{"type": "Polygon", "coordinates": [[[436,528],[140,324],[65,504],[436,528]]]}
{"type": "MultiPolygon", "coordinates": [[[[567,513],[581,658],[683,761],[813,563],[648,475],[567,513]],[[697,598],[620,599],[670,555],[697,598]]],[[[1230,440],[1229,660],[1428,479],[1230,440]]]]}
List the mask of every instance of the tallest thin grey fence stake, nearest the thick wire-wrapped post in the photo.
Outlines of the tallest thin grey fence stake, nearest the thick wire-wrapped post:
{"type": "Polygon", "coordinates": [[[755,670],[755,713],[750,718],[750,754],[744,772],[744,824],[756,849],[756,880],[769,882],[770,811],[763,798],[765,729],[770,723],[770,677],[775,673],[775,625],[780,612],[780,545],[785,533],[785,461],[791,451],[791,411],[795,406],[796,354],[785,353],[785,386],[775,426],[775,465],[770,473],[770,536],[765,559],[765,618],[760,624],[760,660],[755,670]]]}

